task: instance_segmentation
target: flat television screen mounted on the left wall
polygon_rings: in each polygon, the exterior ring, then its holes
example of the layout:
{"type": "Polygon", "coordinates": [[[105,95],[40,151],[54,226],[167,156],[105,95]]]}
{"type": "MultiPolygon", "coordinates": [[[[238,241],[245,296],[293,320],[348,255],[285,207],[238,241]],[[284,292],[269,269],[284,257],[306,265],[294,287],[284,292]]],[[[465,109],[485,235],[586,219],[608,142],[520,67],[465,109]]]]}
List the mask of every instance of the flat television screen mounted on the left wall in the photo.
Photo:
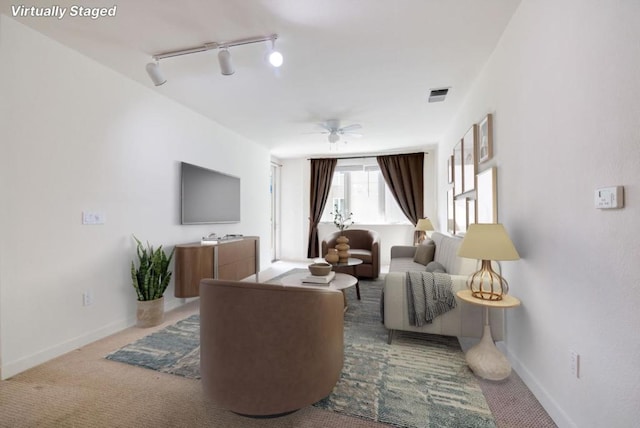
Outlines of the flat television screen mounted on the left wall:
{"type": "Polygon", "coordinates": [[[239,223],[240,178],[182,162],[182,224],[239,223]]]}

